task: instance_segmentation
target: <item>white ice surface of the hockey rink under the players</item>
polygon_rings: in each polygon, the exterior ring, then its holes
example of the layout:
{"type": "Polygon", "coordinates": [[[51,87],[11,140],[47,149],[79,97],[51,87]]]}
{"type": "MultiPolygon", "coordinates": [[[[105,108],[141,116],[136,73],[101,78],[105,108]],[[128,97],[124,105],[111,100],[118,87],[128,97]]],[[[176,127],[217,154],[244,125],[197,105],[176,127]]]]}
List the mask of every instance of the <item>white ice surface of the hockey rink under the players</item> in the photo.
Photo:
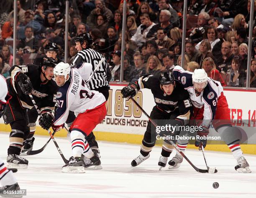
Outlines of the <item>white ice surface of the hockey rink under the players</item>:
{"type": "MultiPolygon", "coordinates": [[[[9,134],[0,132],[0,157],[6,162],[9,134]]],[[[33,150],[41,148],[49,139],[35,136],[33,150]]],[[[66,159],[72,155],[66,138],[56,137],[66,159]]],[[[38,155],[25,156],[28,169],[14,173],[24,198],[234,198],[256,197],[256,156],[245,155],[252,173],[237,173],[236,160],[231,153],[205,151],[210,167],[218,173],[197,173],[186,160],[180,168],[169,170],[168,164],[159,171],[161,147],[154,147],[150,157],[138,167],[131,161],[139,155],[140,145],[99,141],[102,170],[86,173],[62,173],[64,165],[51,141],[38,155]],[[212,183],[218,182],[219,188],[212,183]]],[[[187,157],[205,169],[202,152],[187,150],[187,157]]],[[[171,156],[172,157],[172,156],[171,156]]],[[[171,159],[169,157],[169,159],[171,159]]],[[[168,159],[168,161],[169,161],[168,159]]]]}

